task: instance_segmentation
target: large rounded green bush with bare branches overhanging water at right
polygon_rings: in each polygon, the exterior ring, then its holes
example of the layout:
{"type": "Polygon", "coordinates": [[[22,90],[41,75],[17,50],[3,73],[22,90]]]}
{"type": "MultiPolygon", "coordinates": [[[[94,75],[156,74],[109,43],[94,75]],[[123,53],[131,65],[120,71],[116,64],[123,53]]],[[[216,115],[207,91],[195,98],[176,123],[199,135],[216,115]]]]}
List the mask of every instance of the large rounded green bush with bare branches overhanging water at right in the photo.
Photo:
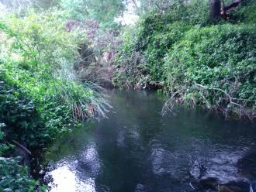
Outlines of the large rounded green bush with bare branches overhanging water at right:
{"type": "Polygon", "coordinates": [[[253,117],[256,104],[255,26],[192,29],[165,57],[166,89],[184,101],[253,117]],[[181,91],[182,90],[182,91],[181,91]]]}

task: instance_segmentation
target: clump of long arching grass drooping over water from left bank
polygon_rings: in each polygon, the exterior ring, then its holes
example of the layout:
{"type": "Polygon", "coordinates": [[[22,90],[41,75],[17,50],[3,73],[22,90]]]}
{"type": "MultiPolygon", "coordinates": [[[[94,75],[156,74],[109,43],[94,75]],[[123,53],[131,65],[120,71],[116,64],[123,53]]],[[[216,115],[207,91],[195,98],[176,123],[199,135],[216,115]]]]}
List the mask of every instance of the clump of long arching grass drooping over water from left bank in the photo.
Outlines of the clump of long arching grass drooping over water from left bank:
{"type": "MultiPolygon", "coordinates": [[[[59,70],[52,74],[54,79],[51,91],[56,101],[68,105],[72,118],[85,120],[86,118],[106,117],[109,102],[104,98],[104,88],[91,81],[81,81],[70,64],[62,63],[59,70]]],[[[47,90],[50,93],[50,89],[47,90]]]]}

